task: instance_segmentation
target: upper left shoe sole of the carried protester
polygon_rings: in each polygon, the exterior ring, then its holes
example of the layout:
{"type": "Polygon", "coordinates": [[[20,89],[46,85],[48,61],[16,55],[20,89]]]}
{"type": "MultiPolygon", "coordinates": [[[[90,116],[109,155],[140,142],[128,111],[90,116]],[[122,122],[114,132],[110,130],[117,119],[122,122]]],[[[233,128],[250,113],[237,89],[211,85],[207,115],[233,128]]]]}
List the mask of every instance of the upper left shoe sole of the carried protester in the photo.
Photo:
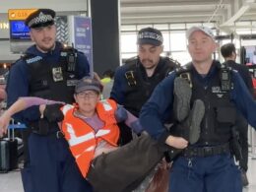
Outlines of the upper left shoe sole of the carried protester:
{"type": "Polygon", "coordinates": [[[175,78],[173,94],[174,115],[176,120],[181,122],[188,116],[190,110],[190,98],[192,95],[191,88],[186,79],[180,77],[175,78]]]}

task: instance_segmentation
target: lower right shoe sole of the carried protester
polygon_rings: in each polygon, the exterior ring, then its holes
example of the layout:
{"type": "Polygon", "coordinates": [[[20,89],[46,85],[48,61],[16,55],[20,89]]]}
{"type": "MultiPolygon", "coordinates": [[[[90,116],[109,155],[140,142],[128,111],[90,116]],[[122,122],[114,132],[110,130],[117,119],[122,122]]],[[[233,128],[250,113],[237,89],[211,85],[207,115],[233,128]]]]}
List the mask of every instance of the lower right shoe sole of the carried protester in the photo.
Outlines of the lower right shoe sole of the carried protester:
{"type": "Polygon", "coordinates": [[[190,144],[195,144],[201,133],[200,124],[205,115],[205,104],[202,100],[196,99],[189,116],[185,120],[186,127],[189,127],[188,141],[190,144]]]}

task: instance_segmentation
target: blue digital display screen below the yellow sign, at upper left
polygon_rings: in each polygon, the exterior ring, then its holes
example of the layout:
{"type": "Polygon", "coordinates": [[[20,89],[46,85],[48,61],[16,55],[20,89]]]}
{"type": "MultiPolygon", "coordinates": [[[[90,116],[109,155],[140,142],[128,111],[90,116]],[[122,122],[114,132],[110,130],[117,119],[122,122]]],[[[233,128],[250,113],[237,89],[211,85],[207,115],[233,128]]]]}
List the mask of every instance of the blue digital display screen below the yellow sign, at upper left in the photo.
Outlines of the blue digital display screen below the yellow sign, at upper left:
{"type": "Polygon", "coordinates": [[[30,28],[25,25],[24,21],[10,21],[10,38],[30,40],[30,28]]]}

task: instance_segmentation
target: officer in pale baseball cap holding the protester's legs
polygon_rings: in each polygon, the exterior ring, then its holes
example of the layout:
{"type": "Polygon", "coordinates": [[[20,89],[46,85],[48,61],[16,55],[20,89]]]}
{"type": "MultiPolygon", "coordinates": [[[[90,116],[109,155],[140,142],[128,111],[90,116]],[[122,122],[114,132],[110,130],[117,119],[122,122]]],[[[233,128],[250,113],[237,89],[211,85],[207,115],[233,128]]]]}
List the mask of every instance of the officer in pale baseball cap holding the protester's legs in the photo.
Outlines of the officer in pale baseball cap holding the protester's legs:
{"type": "MultiPolygon", "coordinates": [[[[172,163],[169,190],[241,192],[240,171],[230,155],[231,128],[236,109],[255,126],[256,103],[239,74],[212,59],[217,45],[209,28],[192,27],[186,35],[192,57],[191,102],[203,100],[206,111],[199,140],[172,163]]],[[[177,75],[171,73],[157,86],[140,115],[140,122],[150,135],[167,145],[172,137],[163,126],[162,116],[172,108],[177,75]]]]}

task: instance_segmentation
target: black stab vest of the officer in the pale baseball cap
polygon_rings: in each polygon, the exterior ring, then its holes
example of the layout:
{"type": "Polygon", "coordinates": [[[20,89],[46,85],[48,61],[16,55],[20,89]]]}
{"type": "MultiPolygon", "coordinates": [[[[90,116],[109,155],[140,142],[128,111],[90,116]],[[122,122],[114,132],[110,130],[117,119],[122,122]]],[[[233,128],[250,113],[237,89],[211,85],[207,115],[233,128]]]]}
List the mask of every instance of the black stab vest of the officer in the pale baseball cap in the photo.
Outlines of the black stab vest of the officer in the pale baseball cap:
{"type": "Polygon", "coordinates": [[[195,99],[205,103],[205,115],[201,123],[201,136],[199,145],[224,144],[231,139],[231,128],[235,122],[235,107],[230,101],[229,92],[221,90],[220,67],[205,88],[197,78],[192,79],[191,105],[195,99]]]}

